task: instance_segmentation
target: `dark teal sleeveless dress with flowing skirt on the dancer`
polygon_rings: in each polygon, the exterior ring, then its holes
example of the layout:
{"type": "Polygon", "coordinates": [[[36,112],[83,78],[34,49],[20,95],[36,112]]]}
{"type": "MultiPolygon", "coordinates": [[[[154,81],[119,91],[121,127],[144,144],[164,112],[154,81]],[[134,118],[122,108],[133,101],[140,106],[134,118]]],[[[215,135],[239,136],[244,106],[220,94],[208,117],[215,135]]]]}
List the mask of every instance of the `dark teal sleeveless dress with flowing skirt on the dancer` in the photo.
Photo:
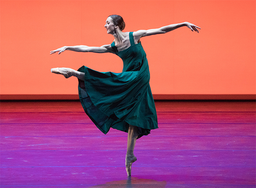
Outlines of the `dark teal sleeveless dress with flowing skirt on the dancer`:
{"type": "Polygon", "coordinates": [[[121,73],[98,72],[86,66],[78,69],[85,73],[79,81],[78,92],[85,113],[102,131],[110,127],[128,133],[129,124],[139,128],[140,138],[151,129],[158,128],[156,107],[149,86],[149,69],[146,53],[141,42],[134,43],[133,32],[129,33],[131,46],[115,54],[123,61],[121,73]]]}

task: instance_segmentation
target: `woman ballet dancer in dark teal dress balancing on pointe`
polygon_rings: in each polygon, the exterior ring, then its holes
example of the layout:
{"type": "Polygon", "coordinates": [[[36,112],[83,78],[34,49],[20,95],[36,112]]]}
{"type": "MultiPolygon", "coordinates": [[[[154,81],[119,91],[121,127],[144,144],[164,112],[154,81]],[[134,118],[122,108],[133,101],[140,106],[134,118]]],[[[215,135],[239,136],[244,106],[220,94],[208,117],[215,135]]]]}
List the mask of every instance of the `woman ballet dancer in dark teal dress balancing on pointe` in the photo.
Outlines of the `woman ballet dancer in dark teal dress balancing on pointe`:
{"type": "MultiPolygon", "coordinates": [[[[79,97],[83,109],[93,123],[104,134],[110,127],[128,132],[125,165],[127,175],[131,175],[136,139],[148,135],[151,129],[158,128],[156,108],[149,86],[149,70],[146,53],[140,38],[149,35],[167,33],[187,26],[192,31],[199,27],[189,22],[172,24],[158,29],[122,32],[125,23],[121,16],[111,15],[106,20],[107,33],[115,38],[112,44],[90,46],[63,46],[50,54],[72,50],[75,52],[115,53],[123,61],[121,73],[97,72],[86,66],[78,71],[71,68],[52,68],[56,74],[66,78],[75,76],[79,81],[79,97]]],[[[200,28],[199,28],[200,29],[200,28]]],[[[199,33],[199,32],[198,32],[199,33]]]]}

